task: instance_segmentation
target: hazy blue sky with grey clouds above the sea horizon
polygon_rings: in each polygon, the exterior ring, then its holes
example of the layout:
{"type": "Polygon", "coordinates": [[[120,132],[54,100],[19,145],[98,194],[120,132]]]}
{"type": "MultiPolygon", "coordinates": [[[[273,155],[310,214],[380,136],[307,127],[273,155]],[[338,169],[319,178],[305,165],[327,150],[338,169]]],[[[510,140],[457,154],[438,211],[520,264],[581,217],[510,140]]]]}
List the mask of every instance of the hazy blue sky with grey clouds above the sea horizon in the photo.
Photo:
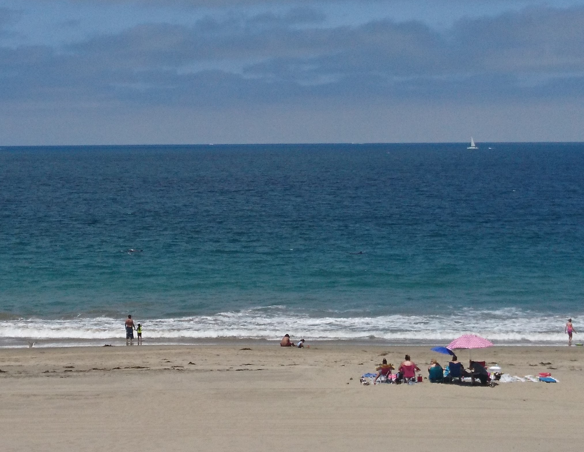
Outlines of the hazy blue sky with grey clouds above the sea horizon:
{"type": "Polygon", "coordinates": [[[584,0],[0,0],[2,145],[584,141],[584,0]]]}

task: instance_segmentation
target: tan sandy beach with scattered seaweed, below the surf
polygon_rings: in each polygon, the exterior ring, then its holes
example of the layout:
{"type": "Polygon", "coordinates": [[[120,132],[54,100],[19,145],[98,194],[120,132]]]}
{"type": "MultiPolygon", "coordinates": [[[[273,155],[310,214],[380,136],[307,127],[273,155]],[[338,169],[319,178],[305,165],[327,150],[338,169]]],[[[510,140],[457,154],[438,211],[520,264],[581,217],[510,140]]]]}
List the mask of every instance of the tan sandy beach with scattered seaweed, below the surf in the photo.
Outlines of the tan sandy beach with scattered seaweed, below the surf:
{"type": "Polygon", "coordinates": [[[581,450],[582,347],[473,352],[512,375],[549,371],[555,384],[359,383],[406,353],[423,370],[447,362],[425,346],[338,343],[2,349],[1,448],[581,450]]]}

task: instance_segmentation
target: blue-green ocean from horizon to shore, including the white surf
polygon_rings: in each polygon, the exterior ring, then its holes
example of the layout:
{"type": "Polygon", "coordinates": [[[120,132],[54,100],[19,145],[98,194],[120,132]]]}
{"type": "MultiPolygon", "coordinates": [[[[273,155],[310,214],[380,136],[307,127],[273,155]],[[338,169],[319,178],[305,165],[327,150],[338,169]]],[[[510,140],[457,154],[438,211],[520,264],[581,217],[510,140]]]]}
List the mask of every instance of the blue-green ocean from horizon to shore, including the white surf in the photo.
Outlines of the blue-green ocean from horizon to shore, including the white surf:
{"type": "Polygon", "coordinates": [[[584,144],[478,145],[3,147],[0,346],[564,343],[584,144]]]}

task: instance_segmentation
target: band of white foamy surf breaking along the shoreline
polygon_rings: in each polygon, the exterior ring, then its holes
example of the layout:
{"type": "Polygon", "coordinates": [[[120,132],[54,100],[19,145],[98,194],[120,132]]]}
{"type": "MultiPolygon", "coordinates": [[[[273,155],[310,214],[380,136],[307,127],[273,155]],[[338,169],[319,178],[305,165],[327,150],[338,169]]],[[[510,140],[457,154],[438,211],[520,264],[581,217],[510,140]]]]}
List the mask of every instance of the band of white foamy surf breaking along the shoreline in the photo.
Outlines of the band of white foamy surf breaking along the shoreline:
{"type": "MultiPolygon", "coordinates": [[[[354,313],[352,313],[354,315],[354,313]]],[[[576,317],[576,316],[574,316],[576,317]]],[[[285,307],[253,308],[210,316],[144,319],[144,336],[180,343],[187,339],[280,339],[284,333],[307,340],[381,340],[387,343],[444,344],[464,333],[496,343],[554,344],[565,340],[565,318],[516,309],[463,310],[451,315],[310,317],[285,307]]],[[[19,319],[0,321],[0,346],[15,339],[97,340],[125,338],[123,319],[19,319]]]]}

